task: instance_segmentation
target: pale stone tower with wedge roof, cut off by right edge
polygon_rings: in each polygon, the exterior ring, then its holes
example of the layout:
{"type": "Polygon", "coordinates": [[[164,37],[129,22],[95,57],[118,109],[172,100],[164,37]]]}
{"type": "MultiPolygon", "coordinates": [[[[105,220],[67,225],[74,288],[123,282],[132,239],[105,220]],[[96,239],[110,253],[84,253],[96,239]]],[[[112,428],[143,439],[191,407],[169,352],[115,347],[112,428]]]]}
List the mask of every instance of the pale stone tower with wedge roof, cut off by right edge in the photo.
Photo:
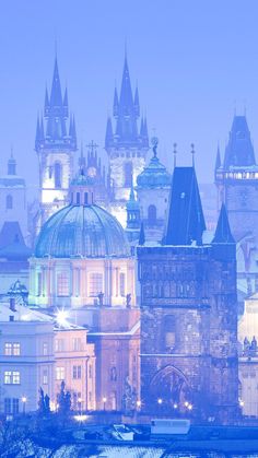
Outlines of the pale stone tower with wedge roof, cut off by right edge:
{"type": "Polygon", "coordinates": [[[237,286],[244,294],[258,291],[258,166],[245,116],[234,116],[222,162],[216,154],[218,208],[225,203],[237,242],[237,286]]]}

